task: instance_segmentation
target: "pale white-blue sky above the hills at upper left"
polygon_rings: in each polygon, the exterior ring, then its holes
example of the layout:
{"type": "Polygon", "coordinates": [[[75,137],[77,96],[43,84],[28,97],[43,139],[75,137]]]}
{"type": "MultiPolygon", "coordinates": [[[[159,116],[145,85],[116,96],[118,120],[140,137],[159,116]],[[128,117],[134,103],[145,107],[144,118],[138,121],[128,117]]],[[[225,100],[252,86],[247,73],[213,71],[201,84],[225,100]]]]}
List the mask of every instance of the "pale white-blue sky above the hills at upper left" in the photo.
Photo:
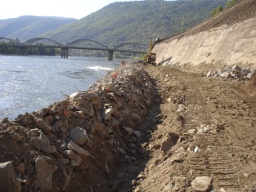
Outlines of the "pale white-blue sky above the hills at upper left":
{"type": "Polygon", "coordinates": [[[132,0],[5,0],[1,3],[0,20],[19,16],[61,16],[81,19],[112,2],[131,1],[132,0]]]}

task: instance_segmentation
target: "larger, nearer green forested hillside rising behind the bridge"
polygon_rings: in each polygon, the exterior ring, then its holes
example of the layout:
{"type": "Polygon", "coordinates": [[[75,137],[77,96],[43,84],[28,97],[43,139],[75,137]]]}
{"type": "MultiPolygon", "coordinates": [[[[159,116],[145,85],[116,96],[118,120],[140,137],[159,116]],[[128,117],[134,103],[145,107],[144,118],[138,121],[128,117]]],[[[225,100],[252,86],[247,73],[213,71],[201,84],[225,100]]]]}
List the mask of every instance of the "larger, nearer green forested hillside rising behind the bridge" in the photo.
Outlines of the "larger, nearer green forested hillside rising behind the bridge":
{"type": "Polygon", "coordinates": [[[143,42],[182,32],[211,16],[227,0],[147,0],[115,2],[99,11],[43,34],[60,42],[89,38],[107,45],[143,42]]]}

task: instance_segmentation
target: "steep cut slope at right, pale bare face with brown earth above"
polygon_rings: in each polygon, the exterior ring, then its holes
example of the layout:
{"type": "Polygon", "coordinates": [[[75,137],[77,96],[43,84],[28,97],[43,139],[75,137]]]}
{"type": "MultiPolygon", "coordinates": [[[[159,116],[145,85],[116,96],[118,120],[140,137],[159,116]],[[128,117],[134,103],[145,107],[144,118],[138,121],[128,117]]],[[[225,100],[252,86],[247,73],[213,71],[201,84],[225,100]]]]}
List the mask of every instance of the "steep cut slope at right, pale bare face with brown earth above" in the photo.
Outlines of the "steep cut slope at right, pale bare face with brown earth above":
{"type": "Polygon", "coordinates": [[[157,43],[153,50],[157,62],[203,72],[219,65],[255,68],[255,10],[255,1],[239,2],[193,29],[157,43]]]}

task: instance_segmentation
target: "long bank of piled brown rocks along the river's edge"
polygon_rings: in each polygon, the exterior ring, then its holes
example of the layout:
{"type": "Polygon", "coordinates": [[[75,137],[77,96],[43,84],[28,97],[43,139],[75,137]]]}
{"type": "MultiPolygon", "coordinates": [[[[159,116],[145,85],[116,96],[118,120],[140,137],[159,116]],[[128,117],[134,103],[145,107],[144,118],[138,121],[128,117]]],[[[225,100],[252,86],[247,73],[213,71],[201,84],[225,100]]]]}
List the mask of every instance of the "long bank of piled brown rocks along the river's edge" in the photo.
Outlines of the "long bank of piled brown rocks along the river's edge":
{"type": "Polygon", "coordinates": [[[140,67],[120,65],[87,92],[3,119],[0,191],[107,191],[120,157],[136,160],[132,142],[152,103],[150,82],[140,67]]]}

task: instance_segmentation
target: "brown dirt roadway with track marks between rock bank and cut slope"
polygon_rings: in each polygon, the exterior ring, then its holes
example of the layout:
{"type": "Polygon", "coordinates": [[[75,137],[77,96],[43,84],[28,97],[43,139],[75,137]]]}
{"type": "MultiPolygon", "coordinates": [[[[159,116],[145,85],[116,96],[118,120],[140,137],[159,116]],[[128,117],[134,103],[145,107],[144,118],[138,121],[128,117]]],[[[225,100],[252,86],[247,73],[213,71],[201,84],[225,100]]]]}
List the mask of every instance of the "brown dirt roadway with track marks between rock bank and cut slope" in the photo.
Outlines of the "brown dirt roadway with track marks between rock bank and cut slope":
{"type": "Polygon", "coordinates": [[[196,191],[196,176],[212,178],[207,191],[256,191],[256,76],[238,83],[142,67],[155,80],[155,104],[140,127],[142,155],[119,167],[112,191],[196,191]]]}

